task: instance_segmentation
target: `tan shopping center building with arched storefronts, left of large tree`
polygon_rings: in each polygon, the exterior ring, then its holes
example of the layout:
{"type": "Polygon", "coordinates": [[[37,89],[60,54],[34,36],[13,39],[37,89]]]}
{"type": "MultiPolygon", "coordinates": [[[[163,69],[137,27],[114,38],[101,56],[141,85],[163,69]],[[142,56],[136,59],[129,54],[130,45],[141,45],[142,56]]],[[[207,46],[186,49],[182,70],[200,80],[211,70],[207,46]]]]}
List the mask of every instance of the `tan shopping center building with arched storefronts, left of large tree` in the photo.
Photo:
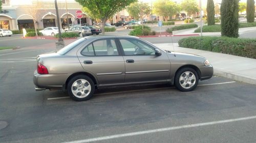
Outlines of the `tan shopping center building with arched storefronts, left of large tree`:
{"type": "MultiPolygon", "coordinates": [[[[80,21],[75,17],[77,10],[82,6],[75,1],[58,1],[59,18],[61,26],[69,24],[79,24],[80,21]],[[68,19],[68,20],[67,20],[68,19]]],[[[37,28],[57,26],[57,17],[54,1],[35,1],[31,4],[15,5],[12,0],[2,0],[2,11],[0,12],[0,28],[9,30],[22,30],[22,28],[34,28],[34,21],[37,28]]],[[[81,18],[82,24],[92,24],[92,19],[86,14],[81,18]]]]}

